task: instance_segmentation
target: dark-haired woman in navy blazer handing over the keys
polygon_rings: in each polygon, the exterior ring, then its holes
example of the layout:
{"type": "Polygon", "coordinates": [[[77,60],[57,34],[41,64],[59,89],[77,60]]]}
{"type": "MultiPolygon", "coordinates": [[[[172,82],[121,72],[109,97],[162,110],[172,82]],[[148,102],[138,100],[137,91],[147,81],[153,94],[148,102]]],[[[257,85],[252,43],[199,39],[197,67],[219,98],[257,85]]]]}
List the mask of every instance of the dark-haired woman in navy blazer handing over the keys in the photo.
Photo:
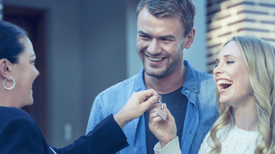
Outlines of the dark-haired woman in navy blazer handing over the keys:
{"type": "Polygon", "coordinates": [[[36,55],[24,30],[0,20],[0,153],[115,153],[127,147],[122,128],[157,102],[153,90],[134,93],[114,116],[64,148],[50,147],[32,117],[20,108],[31,105],[32,83],[39,75],[36,55]],[[145,101],[148,99],[147,101],[145,101]]]}

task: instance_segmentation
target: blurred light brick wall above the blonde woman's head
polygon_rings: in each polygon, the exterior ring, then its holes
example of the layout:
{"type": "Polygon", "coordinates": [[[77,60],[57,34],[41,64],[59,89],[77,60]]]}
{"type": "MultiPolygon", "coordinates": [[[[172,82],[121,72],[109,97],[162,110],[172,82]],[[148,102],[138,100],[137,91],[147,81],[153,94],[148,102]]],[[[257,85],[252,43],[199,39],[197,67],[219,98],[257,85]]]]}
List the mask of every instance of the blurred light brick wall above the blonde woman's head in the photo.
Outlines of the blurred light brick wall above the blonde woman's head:
{"type": "Polygon", "coordinates": [[[275,46],[275,0],[207,0],[207,71],[213,74],[222,46],[233,36],[275,46]]]}

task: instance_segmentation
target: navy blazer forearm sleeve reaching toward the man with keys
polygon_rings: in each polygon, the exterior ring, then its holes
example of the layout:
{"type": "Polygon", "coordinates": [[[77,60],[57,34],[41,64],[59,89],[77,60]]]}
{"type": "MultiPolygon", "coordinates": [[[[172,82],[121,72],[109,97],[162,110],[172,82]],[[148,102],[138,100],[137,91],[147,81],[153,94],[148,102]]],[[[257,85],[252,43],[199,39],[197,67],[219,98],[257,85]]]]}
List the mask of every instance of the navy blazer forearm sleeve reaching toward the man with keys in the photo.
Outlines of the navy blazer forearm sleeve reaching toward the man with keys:
{"type": "Polygon", "coordinates": [[[113,154],[129,146],[126,140],[127,137],[111,114],[98,123],[87,135],[75,140],[73,144],[53,149],[60,154],[113,154]]]}

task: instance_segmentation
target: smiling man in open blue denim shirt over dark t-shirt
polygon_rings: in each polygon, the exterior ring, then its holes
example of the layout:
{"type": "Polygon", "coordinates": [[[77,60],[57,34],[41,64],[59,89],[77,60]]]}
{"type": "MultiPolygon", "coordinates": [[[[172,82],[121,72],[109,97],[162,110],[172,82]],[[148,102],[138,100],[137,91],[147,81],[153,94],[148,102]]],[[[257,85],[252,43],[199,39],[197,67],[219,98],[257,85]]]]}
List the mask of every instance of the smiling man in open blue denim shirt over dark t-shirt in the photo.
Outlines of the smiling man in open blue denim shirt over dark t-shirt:
{"type": "MultiPolygon", "coordinates": [[[[184,60],[184,50],[191,47],[196,34],[193,28],[195,14],[192,0],[140,1],[137,52],[144,68],[138,75],[96,97],[87,132],[106,116],[116,114],[132,93],[154,89],[175,118],[182,153],[198,152],[218,114],[213,76],[193,69],[184,60]]],[[[128,123],[123,132],[130,146],[118,153],[154,153],[158,140],[150,132],[148,123],[148,112],[128,123]]]]}

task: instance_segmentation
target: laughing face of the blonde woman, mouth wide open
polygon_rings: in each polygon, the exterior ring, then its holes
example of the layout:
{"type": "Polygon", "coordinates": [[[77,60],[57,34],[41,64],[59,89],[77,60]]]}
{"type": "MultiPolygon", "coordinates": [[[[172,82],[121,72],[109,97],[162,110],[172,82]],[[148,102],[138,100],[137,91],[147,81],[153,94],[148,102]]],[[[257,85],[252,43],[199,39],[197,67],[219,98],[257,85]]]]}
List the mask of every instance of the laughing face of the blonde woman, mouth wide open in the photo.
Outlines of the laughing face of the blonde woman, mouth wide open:
{"type": "Polygon", "coordinates": [[[213,79],[217,85],[220,103],[236,109],[253,99],[248,70],[236,41],[226,44],[216,59],[213,79]]]}

